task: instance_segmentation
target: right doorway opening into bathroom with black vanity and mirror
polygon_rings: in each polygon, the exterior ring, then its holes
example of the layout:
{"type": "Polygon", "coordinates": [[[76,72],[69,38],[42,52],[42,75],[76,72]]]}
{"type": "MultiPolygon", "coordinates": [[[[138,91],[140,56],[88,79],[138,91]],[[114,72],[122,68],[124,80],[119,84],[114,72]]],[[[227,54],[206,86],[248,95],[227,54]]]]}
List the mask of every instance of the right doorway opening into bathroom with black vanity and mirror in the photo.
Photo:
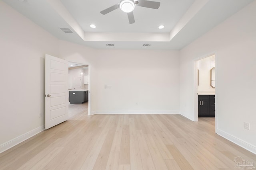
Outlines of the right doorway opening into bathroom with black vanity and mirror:
{"type": "Polygon", "coordinates": [[[200,57],[194,61],[194,118],[215,121],[215,53],[200,57]],[[208,118],[204,118],[208,117],[208,118]],[[212,117],[212,118],[210,118],[212,117]]]}

